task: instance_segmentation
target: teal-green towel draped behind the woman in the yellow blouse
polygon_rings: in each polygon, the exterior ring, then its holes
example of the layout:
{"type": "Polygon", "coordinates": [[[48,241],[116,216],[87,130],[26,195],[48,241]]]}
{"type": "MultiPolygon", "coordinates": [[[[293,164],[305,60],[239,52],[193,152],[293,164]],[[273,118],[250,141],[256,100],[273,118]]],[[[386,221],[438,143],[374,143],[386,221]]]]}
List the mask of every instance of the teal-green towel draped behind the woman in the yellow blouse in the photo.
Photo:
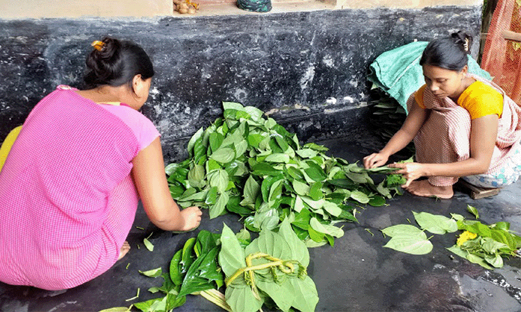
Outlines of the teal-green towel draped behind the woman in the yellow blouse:
{"type": "MultiPolygon", "coordinates": [[[[381,53],[370,65],[367,79],[395,98],[406,112],[409,96],[425,83],[420,58],[427,44],[420,41],[399,46],[381,53]]],[[[490,73],[481,69],[470,55],[468,68],[470,73],[490,80],[490,73]]]]}

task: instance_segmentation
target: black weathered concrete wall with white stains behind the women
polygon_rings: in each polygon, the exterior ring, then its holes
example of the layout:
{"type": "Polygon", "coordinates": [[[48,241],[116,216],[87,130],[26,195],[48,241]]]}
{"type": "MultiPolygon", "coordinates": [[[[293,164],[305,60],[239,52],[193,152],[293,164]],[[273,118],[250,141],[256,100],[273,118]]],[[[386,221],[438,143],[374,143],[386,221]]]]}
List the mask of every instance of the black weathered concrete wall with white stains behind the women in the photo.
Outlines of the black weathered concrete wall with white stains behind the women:
{"type": "Polygon", "coordinates": [[[222,114],[222,101],[271,112],[304,141],[365,131],[374,58],[459,29],[477,37],[480,26],[481,5],[0,19],[0,140],[56,85],[82,87],[90,42],[103,35],[134,40],[151,55],[157,74],[143,113],[162,133],[170,162],[183,159],[189,137],[222,114]]]}

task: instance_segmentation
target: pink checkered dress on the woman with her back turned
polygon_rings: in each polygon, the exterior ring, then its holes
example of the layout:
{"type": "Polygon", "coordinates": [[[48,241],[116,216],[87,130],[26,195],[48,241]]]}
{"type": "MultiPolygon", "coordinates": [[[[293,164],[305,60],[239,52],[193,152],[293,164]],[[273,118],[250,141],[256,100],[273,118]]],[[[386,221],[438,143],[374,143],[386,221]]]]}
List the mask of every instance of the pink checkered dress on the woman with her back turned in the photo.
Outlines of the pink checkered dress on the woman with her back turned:
{"type": "Polygon", "coordinates": [[[138,205],[131,161],[158,135],[70,87],[42,99],[0,172],[0,281],[58,290],[113,266],[138,205]]]}

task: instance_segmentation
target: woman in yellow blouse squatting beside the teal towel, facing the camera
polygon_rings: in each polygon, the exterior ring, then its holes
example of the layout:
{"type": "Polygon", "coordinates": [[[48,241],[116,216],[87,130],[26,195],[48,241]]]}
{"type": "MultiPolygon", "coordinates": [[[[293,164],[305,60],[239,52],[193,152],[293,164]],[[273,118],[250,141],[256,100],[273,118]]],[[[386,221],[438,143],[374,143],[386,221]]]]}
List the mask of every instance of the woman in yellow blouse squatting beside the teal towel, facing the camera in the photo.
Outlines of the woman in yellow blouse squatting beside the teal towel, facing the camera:
{"type": "Polygon", "coordinates": [[[364,157],[365,168],[386,164],[414,139],[417,162],[389,165],[414,195],[452,198],[458,177],[486,188],[518,180],[521,107],[495,83],[468,74],[471,44],[461,31],[429,42],[420,59],[426,84],[408,99],[402,128],[379,153],[364,157]]]}

